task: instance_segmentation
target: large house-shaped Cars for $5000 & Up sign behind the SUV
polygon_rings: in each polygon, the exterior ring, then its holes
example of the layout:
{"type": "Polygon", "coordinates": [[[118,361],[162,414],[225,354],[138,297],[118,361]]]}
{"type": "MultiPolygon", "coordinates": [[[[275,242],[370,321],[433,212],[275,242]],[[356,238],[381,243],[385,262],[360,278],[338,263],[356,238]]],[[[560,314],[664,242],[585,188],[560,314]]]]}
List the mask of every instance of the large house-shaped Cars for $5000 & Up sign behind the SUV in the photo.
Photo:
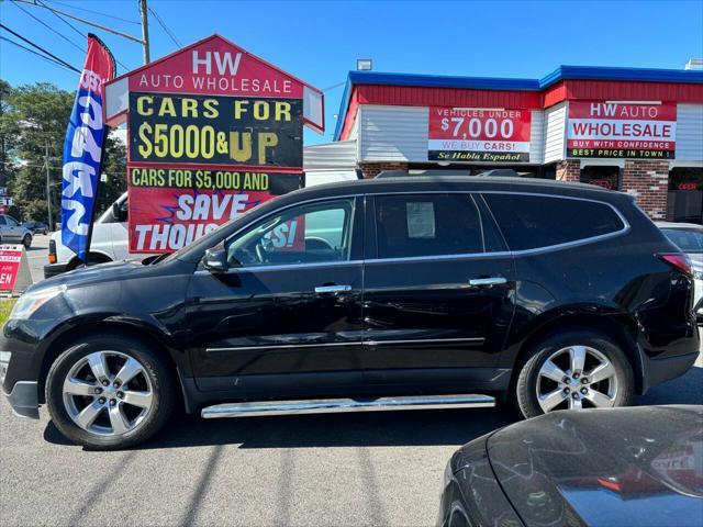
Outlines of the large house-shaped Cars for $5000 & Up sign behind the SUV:
{"type": "Polygon", "coordinates": [[[108,105],[111,124],[129,114],[133,253],[179,249],[300,188],[303,124],[324,130],[319,90],[217,35],[115,79],[108,105]]]}

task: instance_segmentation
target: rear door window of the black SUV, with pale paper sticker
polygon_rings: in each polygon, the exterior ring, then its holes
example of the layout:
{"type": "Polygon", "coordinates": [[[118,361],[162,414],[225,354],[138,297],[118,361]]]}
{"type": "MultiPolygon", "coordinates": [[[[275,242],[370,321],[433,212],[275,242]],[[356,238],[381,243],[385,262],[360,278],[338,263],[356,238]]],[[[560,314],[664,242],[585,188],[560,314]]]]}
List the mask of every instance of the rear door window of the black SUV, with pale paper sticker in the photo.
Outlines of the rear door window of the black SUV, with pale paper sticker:
{"type": "Polygon", "coordinates": [[[377,195],[376,233],[379,258],[483,253],[470,194],[377,195]]]}

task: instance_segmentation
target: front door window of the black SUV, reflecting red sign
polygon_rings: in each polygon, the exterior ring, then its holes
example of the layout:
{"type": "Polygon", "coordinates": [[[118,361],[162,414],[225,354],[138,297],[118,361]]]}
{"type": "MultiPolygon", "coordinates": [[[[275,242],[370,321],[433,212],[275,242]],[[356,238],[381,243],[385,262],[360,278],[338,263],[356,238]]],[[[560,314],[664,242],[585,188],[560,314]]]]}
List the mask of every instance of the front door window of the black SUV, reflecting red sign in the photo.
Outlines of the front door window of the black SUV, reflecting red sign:
{"type": "Polygon", "coordinates": [[[227,259],[233,266],[348,260],[353,211],[353,199],[289,209],[231,238],[227,259]]]}

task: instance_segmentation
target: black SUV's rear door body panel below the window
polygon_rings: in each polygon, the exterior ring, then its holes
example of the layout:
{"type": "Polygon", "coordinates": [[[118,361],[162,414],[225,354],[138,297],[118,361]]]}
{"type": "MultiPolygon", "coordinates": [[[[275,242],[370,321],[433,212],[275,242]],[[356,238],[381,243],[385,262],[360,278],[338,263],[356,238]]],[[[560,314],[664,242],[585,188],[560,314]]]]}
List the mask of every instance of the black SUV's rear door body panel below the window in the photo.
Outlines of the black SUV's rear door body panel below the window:
{"type": "Polygon", "coordinates": [[[494,362],[513,313],[509,256],[369,262],[365,282],[365,338],[376,347],[368,368],[494,362]],[[505,283],[469,284],[486,277],[502,277],[505,283]]]}

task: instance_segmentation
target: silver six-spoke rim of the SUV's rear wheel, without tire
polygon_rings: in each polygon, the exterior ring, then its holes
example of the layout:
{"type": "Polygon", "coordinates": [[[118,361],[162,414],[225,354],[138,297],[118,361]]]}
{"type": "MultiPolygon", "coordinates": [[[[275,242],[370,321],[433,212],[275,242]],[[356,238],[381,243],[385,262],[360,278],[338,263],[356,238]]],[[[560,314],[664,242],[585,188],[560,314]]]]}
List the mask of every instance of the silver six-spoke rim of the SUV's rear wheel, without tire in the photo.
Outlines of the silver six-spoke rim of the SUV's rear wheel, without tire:
{"type": "Polygon", "coordinates": [[[537,401],[546,414],[555,410],[615,406],[617,374],[605,355],[589,346],[555,351],[537,374],[537,401]]]}

